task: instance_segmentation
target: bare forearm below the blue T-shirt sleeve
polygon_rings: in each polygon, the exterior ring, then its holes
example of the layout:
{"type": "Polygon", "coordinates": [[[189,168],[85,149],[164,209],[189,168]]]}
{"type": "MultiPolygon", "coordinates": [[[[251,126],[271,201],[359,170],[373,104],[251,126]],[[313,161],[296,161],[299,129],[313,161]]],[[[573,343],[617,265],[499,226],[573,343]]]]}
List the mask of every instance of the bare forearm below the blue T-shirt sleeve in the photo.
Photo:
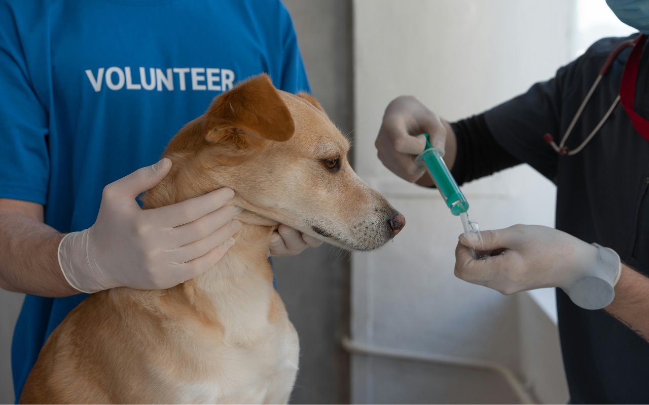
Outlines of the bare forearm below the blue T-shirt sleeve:
{"type": "Polygon", "coordinates": [[[45,297],[79,294],[58,266],[62,237],[29,213],[0,209],[0,287],[45,297]]]}

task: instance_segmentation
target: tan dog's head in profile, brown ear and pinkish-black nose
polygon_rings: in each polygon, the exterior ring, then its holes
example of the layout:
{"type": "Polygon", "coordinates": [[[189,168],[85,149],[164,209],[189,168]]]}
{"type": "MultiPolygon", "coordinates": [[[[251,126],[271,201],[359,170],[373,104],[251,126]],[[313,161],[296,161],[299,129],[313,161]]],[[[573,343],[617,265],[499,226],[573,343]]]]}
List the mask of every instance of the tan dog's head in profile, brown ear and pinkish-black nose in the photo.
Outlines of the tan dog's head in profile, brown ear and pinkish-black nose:
{"type": "Polygon", "coordinates": [[[278,91],[268,76],[255,76],[217,97],[171,140],[165,156],[173,167],[145,205],[230,187],[233,205],[271,225],[342,248],[375,249],[405,219],[354,173],[349,146],[313,97],[278,91]]]}

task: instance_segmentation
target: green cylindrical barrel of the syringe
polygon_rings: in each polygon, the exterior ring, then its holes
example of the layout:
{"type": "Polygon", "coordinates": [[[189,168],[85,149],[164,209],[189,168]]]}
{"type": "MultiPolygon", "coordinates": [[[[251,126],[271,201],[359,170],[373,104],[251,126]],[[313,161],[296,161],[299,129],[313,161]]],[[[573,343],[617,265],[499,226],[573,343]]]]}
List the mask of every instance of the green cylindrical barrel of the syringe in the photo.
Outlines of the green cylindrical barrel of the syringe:
{"type": "Polygon", "coordinates": [[[469,211],[469,202],[467,202],[464,194],[459,191],[458,183],[450,174],[450,170],[448,170],[439,152],[435,148],[426,148],[421,154],[421,159],[426,164],[426,170],[428,170],[428,174],[435,182],[435,186],[437,186],[439,193],[447,203],[450,212],[459,215],[469,211]]]}

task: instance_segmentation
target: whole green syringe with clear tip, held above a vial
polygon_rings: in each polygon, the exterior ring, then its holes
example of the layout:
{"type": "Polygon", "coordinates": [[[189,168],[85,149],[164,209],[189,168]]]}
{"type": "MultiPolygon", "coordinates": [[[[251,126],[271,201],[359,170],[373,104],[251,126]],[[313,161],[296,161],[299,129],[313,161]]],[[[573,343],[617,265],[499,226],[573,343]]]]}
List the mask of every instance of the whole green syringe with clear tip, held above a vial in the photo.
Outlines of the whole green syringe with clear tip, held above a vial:
{"type": "MultiPolygon", "coordinates": [[[[441,194],[450,209],[450,213],[459,215],[465,233],[477,233],[479,236],[480,227],[478,227],[478,223],[469,220],[469,202],[467,202],[467,198],[459,190],[457,181],[450,174],[450,170],[448,170],[444,159],[442,159],[443,155],[439,154],[437,149],[430,145],[430,135],[424,133],[424,136],[426,137],[426,147],[424,152],[417,156],[417,164],[421,165],[423,162],[428,174],[430,174],[430,178],[433,179],[437,190],[439,190],[439,194],[441,194]]],[[[476,251],[471,249],[473,259],[486,259],[489,257],[489,253],[488,251],[479,251],[476,255],[476,251]]]]}

